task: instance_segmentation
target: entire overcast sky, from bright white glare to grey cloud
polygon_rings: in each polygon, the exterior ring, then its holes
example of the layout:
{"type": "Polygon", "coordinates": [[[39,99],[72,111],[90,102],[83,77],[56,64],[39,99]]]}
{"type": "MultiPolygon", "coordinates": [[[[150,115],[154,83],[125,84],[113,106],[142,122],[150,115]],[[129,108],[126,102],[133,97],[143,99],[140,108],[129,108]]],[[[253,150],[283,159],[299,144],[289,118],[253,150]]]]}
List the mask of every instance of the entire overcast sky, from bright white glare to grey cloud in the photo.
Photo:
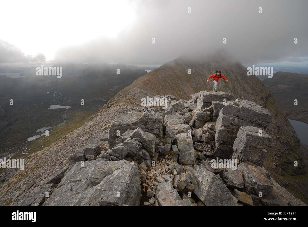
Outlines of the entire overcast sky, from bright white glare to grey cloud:
{"type": "Polygon", "coordinates": [[[308,63],[306,0],[28,0],[1,8],[1,63],[154,65],[217,51],[243,64],[308,63]]]}

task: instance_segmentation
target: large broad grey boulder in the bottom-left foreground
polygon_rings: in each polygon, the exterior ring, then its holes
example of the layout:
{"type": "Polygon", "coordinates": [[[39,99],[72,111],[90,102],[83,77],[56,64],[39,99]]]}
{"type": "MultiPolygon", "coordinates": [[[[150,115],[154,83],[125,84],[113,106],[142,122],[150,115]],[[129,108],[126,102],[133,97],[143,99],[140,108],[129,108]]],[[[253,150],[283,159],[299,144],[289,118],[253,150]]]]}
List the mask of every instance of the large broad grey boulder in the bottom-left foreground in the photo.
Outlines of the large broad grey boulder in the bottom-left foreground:
{"type": "Polygon", "coordinates": [[[136,163],[97,159],[77,162],[44,205],[139,205],[140,198],[136,163]]]}

